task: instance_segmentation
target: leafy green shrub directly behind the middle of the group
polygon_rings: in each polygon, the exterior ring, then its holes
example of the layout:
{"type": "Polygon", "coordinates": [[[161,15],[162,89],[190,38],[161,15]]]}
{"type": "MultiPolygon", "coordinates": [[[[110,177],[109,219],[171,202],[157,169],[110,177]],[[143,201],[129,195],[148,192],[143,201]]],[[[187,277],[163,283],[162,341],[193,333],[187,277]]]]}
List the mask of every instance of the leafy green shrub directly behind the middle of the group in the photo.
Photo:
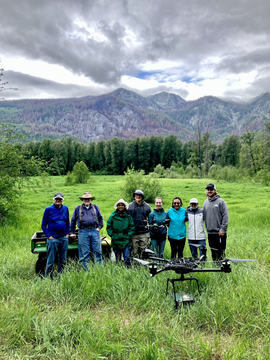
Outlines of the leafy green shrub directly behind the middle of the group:
{"type": "Polygon", "coordinates": [[[121,197],[131,202],[134,200],[132,194],[138,189],[143,191],[147,203],[153,203],[157,196],[162,198],[167,196],[160,180],[144,175],[144,170],[136,171],[133,167],[127,168],[124,182],[119,186],[121,197]]]}

